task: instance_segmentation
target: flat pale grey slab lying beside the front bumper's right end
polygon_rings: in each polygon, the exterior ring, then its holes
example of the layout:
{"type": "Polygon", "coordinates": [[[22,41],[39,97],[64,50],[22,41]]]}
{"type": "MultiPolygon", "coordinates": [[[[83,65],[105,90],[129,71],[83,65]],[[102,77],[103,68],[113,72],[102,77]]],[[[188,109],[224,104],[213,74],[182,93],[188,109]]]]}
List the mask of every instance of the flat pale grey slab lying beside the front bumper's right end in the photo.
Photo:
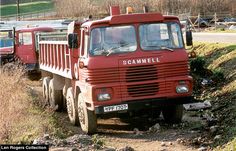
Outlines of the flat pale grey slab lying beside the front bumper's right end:
{"type": "Polygon", "coordinates": [[[209,101],[204,101],[204,102],[183,104],[183,106],[186,111],[197,111],[201,109],[211,108],[211,103],[209,101]]]}

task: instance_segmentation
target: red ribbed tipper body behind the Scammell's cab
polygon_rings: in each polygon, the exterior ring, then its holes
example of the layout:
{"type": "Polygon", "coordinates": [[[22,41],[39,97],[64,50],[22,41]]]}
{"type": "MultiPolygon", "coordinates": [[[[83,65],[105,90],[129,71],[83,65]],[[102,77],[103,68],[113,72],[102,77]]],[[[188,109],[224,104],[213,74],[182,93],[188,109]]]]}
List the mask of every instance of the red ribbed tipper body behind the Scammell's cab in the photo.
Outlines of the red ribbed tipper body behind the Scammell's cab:
{"type": "Polygon", "coordinates": [[[72,50],[65,40],[66,33],[41,33],[38,35],[40,69],[72,79],[72,50]]]}

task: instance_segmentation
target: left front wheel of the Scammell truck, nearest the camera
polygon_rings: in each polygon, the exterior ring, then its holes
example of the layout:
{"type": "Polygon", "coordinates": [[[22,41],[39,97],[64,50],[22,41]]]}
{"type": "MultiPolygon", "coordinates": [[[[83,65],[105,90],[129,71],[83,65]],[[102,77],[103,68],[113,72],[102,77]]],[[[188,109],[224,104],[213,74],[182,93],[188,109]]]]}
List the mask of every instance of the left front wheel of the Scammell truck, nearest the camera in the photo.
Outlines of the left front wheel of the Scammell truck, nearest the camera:
{"type": "Polygon", "coordinates": [[[78,97],[78,115],[81,129],[87,134],[97,131],[97,117],[94,111],[88,110],[81,94],[78,97]]]}

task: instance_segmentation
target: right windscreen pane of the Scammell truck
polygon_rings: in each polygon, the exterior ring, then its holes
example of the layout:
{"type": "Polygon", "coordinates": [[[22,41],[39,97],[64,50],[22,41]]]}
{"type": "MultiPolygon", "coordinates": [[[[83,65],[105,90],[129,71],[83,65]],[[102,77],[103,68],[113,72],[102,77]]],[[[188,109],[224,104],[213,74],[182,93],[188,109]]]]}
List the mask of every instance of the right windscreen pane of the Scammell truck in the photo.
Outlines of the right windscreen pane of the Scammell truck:
{"type": "Polygon", "coordinates": [[[143,50],[182,48],[183,40],[177,23],[143,24],[139,27],[140,45],[143,50]]]}

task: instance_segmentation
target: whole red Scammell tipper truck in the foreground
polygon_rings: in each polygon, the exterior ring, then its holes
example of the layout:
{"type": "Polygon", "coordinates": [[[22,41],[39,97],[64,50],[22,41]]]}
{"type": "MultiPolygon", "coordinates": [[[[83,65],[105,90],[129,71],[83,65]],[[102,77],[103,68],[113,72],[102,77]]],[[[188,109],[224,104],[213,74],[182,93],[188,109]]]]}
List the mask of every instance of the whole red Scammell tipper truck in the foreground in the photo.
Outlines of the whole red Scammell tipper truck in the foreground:
{"type": "Polygon", "coordinates": [[[177,17],[112,7],[104,19],[71,23],[66,41],[47,36],[39,37],[44,101],[55,110],[66,105],[84,132],[96,132],[104,114],[161,109],[166,121],[181,121],[193,85],[177,17]]]}

